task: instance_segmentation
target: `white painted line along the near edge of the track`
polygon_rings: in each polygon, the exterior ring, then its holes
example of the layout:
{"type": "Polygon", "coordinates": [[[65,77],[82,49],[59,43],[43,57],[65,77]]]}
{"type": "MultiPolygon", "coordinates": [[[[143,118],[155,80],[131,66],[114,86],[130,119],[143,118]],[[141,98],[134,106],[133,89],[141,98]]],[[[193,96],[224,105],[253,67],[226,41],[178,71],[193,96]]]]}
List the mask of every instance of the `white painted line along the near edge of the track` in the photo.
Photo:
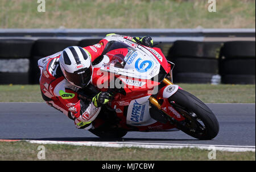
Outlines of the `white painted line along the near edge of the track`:
{"type": "Polygon", "coordinates": [[[94,147],[113,147],[113,148],[151,148],[151,149],[172,149],[172,148],[197,148],[212,151],[227,152],[255,152],[255,146],[237,146],[237,145],[203,145],[203,144],[171,144],[171,143],[134,143],[134,142],[107,142],[107,141],[47,141],[47,140],[26,140],[29,143],[36,144],[68,144],[94,147]]]}

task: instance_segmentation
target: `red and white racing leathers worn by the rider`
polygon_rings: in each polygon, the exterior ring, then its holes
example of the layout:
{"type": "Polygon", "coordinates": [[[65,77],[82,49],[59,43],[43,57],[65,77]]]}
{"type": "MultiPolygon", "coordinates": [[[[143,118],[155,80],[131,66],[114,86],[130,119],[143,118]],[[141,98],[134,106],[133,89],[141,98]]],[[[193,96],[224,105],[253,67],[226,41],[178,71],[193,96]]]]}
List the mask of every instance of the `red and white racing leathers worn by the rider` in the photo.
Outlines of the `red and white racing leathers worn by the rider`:
{"type": "MultiPolygon", "coordinates": [[[[86,46],[84,49],[90,54],[92,62],[99,61],[97,58],[102,55],[109,41],[125,40],[133,40],[133,38],[110,34],[98,44],[86,46]]],[[[48,105],[53,106],[73,119],[77,128],[88,130],[92,128],[91,122],[100,113],[101,108],[96,108],[90,98],[86,101],[81,99],[77,94],[79,88],[73,86],[64,78],[59,63],[60,54],[61,51],[39,59],[38,61],[38,66],[41,71],[40,88],[42,97],[48,105]]],[[[97,65],[93,66],[93,68],[100,67],[100,65],[101,60],[97,62],[97,65]]],[[[92,79],[88,87],[94,87],[92,85],[92,79]]],[[[94,87],[94,90],[96,90],[95,88],[96,87],[94,87]]],[[[92,91],[92,89],[90,89],[90,91],[92,91]]],[[[97,93],[97,91],[94,95],[91,93],[91,96],[96,96],[97,93]]]]}

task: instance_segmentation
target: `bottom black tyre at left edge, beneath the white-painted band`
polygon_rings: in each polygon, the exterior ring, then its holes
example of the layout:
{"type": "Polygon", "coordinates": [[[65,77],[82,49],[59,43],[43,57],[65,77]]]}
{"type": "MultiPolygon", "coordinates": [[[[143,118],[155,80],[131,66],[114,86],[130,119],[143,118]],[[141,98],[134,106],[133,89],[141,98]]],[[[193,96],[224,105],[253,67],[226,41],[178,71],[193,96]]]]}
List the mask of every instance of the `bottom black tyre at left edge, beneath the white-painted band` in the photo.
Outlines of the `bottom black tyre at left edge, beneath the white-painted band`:
{"type": "Polygon", "coordinates": [[[0,84],[29,84],[28,72],[0,72],[0,84]]]}

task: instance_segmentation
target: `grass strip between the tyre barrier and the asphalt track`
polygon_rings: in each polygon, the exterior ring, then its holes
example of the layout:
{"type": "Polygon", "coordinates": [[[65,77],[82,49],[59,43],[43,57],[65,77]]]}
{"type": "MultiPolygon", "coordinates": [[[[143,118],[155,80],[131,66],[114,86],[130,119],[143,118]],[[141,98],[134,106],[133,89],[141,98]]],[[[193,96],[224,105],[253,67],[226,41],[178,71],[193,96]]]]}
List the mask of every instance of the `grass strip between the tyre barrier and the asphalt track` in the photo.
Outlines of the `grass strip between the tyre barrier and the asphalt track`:
{"type": "MultiPolygon", "coordinates": [[[[255,85],[179,84],[205,103],[254,103],[255,85]]],[[[39,85],[0,85],[0,102],[44,102],[39,85]]]]}

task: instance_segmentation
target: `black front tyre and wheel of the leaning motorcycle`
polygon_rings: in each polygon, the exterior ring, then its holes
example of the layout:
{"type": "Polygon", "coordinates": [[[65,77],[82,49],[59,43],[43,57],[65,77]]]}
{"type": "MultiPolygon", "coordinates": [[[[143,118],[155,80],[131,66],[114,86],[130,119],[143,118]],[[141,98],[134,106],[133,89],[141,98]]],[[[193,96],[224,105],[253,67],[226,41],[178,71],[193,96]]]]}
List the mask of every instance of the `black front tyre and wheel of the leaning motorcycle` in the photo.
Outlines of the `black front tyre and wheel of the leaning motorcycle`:
{"type": "Polygon", "coordinates": [[[181,131],[200,140],[210,140],[217,136],[217,118],[199,98],[178,89],[168,100],[185,118],[184,121],[177,123],[177,128],[181,131]]]}

